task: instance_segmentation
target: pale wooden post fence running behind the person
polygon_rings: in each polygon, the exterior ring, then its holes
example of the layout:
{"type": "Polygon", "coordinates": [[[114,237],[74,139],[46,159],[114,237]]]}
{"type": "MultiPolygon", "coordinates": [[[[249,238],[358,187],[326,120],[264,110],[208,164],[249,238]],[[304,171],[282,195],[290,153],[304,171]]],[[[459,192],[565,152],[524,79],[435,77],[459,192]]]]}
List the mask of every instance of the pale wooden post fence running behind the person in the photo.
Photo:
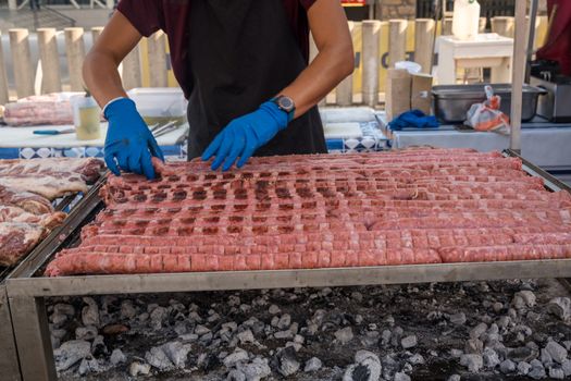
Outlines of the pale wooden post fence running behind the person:
{"type": "MultiPolygon", "coordinates": [[[[434,21],[429,19],[349,22],[356,52],[355,73],[327,96],[327,103],[376,106],[383,101],[387,69],[399,60],[413,60],[422,65],[423,71],[427,71],[434,59],[431,50],[434,28],[438,29],[438,34],[449,34],[451,29],[450,20],[445,20],[442,24],[435,25],[434,21]]],[[[535,26],[536,47],[543,44],[546,25],[547,20],[541,17],[535,26]]],[[[485,27],[485,20],[482,27],[485,27]]],[[[494,17],[492,28],[500,35],[512,37],[513,19],[494,17]]],[[[95,27],[87,33],[90,33],[95,40],[101,30],[101,27],[95,27]]],[[[63,34],[69,73],[65,83],[61,75],[55,29],[37,30],[36,65],[32,60],[29,32],[9,30],[11,57],[4,57],[0,45],[0,105],[8,102],[9,98],[14,100],[34,94],[83,89],[82,63],[86,54],[86,30],[73,27],[65,28],[63,34]],[[4,60],[12,61],[14,85],[11,87],[4,60]]],[[[312,44],[311,59],[315,54],[316,48],[312,44]]],[[[120,69],[126,89],[177,86],[169,61],[166,36],[162,32],[144,38],[125,58],[120,69]]]]}

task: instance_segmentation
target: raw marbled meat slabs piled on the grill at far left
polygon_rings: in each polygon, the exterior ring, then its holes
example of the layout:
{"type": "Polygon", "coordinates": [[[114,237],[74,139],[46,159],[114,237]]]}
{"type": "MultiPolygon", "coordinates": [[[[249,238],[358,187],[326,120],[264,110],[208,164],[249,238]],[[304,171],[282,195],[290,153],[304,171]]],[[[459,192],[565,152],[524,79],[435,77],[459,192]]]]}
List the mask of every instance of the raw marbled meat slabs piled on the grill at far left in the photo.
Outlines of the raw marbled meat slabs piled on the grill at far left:
{"type": "Polygon", "coordinates": [[[51,201],[87,192],[102,169],[95,158],[0,160],[0,266],[16,263],[61,225],[66,214],[51,201]]]}

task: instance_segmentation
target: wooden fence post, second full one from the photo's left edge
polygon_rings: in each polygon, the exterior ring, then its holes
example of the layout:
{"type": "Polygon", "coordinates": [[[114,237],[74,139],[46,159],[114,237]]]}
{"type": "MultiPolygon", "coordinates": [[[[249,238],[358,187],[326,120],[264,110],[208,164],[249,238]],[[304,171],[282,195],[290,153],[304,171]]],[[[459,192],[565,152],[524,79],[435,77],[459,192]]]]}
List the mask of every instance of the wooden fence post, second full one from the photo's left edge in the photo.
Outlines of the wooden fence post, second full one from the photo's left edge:
{"type": "Polygon", "coordinates": [[[58,56],[58,41],[55,28],[39,28],[38,48],[41,60],[41,93],[58,93],[62,90],[60,75],[60,57],[58,56]]]}

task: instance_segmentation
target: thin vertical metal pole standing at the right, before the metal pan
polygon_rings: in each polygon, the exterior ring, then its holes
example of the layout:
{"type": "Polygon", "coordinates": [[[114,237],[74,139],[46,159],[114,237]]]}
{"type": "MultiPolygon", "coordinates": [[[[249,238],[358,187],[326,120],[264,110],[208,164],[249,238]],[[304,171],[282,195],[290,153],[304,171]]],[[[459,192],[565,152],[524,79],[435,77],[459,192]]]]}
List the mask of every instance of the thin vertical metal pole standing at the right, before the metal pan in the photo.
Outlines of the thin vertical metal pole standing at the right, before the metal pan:
{"type": "Polygon", "coordinates": [[[525,75],[525,12],[527,1],[516,1],[516,39],[513,41],[513,73],[511,83],[510,148],[521,152],[521,102],[525,75]]]}

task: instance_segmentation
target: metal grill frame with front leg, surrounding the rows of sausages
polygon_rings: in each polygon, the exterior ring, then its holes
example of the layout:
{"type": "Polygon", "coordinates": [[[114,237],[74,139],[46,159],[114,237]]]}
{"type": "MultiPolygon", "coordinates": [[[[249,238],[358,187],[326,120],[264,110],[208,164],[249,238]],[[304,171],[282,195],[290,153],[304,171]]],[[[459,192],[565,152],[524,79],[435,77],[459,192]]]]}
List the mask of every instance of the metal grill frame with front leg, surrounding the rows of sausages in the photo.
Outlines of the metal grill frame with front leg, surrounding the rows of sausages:
{"type": "MultiPolygon", "coordinates": [[[[506,156],[519,157],[506,151],[506,156]]],[[[542,169],[523,160],[524,170],[544,180],[546,188],[571,188],[542,169]]],[[[24,381],[57,380],[45,298],[71,295],[139,294],[321,287],[397,283],[458,282],[520,278],[569,278],[571,259],[509,262],[438,263],[335,268],[311,270],[262,270],[137,275],[84,275],[44,278],[40,270],[60,249],[73,245],[80,228],[102,208],[99,182],[54,231],[15,269],[8,280],[8,295],[24,381]]]]}

